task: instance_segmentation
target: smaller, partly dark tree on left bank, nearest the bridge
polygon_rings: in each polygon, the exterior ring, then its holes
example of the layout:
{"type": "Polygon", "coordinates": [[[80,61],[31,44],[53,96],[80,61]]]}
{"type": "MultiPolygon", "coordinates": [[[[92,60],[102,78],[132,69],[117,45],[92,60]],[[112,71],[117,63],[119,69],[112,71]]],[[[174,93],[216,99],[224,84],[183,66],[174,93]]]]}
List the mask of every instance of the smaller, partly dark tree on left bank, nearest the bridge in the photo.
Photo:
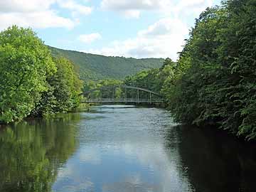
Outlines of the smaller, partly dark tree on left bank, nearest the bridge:
{"type": "Polygon", "coordinates": [[[55,58],[57,72],[47,78],[48,91],[43,92],[41,101],[33,110],[33,116],[68,112],[80,105],[82,81],[74,65],[66,58],[55,58]]]}

